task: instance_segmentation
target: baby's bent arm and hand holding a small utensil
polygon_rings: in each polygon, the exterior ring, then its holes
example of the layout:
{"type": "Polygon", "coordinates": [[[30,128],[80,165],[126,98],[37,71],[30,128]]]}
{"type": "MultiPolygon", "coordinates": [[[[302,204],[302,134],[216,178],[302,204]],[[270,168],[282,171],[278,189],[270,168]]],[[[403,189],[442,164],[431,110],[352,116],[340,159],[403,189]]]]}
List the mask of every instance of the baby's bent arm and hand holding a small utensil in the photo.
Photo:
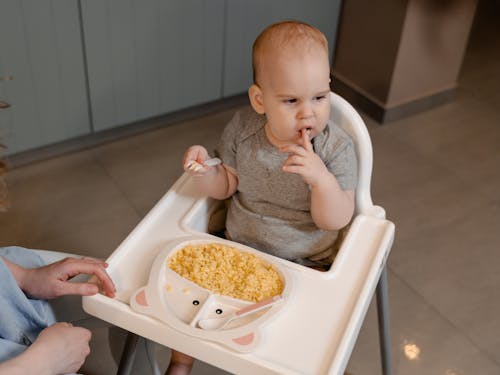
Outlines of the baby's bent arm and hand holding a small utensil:
{"type": "Polygon", "coordinates": [[[202,193],[220,200],[229,198],[238,187],[236,171],[223,164],[213,167],[204,165],[208,158],[208,152],[203,146],[191,146],[184,153],[184,170],[196,178],[198,189],[202,193]],[[190,169],[192,161],[199,163],[201,168],[190,169]]]}

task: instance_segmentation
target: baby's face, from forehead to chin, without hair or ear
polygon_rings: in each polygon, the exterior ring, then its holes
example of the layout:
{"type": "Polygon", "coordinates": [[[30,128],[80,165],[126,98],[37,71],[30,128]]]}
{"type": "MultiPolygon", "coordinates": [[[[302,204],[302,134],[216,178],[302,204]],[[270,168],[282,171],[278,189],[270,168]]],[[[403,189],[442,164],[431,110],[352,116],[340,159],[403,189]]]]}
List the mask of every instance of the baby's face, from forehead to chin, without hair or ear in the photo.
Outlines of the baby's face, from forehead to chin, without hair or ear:
{"type": "Polygon", "coordinates": [[[314,138],[330,115],[330,65],[322,49],[265,59],[259,76],[266,135],[277,147],[299,144],[302,132],[314,138]]]}

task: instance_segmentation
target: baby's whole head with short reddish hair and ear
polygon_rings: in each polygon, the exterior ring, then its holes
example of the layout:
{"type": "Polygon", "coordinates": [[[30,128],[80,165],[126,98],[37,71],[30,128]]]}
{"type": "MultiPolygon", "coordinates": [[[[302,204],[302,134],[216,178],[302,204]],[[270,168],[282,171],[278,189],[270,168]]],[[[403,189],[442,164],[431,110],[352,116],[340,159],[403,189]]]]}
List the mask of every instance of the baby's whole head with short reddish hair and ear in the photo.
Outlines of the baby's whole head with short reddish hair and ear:
{"type": "Polygon", "coordinates": [[[275,146],[300,144],[326,126],[330,114],[328,42],[321,31],[297,21],[267,27],[253,45],[254,84],[248,90],[275,146]]]}

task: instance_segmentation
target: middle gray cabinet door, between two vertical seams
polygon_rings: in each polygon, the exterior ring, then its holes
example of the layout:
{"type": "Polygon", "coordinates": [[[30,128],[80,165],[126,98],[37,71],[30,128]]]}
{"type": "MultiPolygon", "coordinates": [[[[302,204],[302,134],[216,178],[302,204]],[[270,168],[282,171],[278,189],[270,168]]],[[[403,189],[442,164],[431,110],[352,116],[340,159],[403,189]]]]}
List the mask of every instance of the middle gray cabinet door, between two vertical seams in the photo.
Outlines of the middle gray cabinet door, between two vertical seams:
{"type": "Polygon", "coordinates": [[[221,97],[223,0],[82,1],[95,130],[221,97]]]}

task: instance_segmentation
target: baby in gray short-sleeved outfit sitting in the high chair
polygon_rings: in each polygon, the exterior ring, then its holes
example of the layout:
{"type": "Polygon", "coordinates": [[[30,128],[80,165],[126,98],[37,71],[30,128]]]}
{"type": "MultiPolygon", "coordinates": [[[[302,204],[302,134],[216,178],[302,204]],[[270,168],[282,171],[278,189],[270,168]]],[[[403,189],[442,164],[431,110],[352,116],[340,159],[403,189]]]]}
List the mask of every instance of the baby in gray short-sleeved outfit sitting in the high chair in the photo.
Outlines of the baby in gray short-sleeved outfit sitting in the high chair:
{"type": "MultiPolygon", "coordinates": [[[[328,42],[316,28],[285,21],[253,45],[252,110],[235,114],[217,156],[191,146],[184,169],[201,191],[231,198],[228,238],[319,269],[335,256],[338,230],[354,211],[357,162],[349,136],[330,116],[328,42]],[[196,162],[196,168],[193,168],[196,162]]],[[[184,354],[174,352],[185,363],[184,354]]]]}

